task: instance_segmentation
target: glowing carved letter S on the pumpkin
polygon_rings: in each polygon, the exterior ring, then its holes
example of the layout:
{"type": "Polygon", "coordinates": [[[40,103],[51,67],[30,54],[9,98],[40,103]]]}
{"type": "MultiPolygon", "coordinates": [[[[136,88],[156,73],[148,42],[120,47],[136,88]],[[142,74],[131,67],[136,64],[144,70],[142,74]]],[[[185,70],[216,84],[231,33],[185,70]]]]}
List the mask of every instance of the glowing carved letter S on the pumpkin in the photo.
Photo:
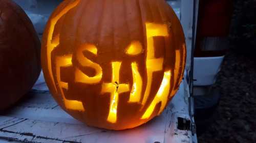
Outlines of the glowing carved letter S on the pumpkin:
{"type": "Polygon", "coordinates": [[[83,51],[88,50],[92,52],[93,54],[97,55],[97,48],[92,44],[83,44],[81,45],[77,51],[76,51],[76,58],[78,62],[83,67],[90,67],[95,69],[96,74],[93,77],[89,77],[88,75],[84,74],[81,70],[78,68],[75,68],[75,82],[81,82],[81,83],[88,83],[88,84],[94,84],[100,82],[102,78],[102,68],[100,65],[90,61],[83,55],[83,51]]]}

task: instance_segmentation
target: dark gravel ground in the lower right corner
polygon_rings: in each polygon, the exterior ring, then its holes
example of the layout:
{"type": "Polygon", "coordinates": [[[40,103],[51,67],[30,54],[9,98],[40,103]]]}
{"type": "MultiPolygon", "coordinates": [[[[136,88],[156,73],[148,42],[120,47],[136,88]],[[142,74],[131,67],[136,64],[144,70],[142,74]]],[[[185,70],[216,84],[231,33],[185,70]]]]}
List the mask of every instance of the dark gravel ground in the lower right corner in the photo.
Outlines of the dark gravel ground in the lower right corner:
{"type": "Polygon", "coordinates": [[[229,51],[219,73],[221,101],[199,143],[256,142],[256,62],[229,51]]]}

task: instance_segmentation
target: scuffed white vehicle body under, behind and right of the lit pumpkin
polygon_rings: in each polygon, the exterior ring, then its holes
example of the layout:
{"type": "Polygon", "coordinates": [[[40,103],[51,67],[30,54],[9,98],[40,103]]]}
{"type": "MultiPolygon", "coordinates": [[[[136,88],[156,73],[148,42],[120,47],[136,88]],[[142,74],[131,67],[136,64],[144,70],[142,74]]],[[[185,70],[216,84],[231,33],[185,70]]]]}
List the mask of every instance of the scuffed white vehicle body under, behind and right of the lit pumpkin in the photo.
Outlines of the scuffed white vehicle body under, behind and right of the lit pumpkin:
{"type": "MultiPolygon", "coordinates": [[[[34,23],[40,36],[53,9],[61,1],[15,0],[34,23]]],[[[197,142],[194,120],[193,47],[198,2],[167,1],[181,20],[186,38],[187,64],[184,80],[161,116],[140,127],[112,131],[88,127],[63,111],[49,94],[41,74],[29,97],[0,116],[0,142],[170,143],[197,142]]]]}

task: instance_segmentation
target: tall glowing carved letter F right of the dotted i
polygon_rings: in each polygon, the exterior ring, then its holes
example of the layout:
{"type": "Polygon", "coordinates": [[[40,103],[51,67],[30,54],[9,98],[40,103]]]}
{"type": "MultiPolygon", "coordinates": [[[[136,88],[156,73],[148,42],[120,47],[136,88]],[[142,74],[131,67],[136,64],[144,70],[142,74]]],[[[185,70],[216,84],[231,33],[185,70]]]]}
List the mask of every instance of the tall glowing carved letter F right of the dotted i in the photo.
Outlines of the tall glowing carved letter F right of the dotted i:
{"type": "Polygon", "coordinates": [[[147,37],[147,56],[146,56],[146,69],[147,69],[147,84],[146,91],[142,100],[142,105],[147,101],[151,91],[152,76],[156,71],[163,70],[163,58],[155,58],[154,37],[168,36],[168,28],[166,24],[146,23],[146,37],[147,37]]]}

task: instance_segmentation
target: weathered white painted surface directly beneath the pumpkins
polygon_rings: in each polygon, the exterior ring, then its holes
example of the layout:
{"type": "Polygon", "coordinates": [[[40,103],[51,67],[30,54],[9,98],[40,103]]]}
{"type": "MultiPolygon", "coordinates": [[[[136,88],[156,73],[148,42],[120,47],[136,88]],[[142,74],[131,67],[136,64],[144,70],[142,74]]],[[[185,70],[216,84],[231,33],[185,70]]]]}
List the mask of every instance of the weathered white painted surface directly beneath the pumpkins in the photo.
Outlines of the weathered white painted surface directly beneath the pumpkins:
{"type": "Polygon", "coordinates": [[[192,142],[190,131],[177,129],[177,118],[190,119],[183,82],[175,98],[152,121],[130,130],[86,126],[63,111],[48,93],[30,93],[0,116],[0,138],[28,142],[161,143],[192,142]]]}

